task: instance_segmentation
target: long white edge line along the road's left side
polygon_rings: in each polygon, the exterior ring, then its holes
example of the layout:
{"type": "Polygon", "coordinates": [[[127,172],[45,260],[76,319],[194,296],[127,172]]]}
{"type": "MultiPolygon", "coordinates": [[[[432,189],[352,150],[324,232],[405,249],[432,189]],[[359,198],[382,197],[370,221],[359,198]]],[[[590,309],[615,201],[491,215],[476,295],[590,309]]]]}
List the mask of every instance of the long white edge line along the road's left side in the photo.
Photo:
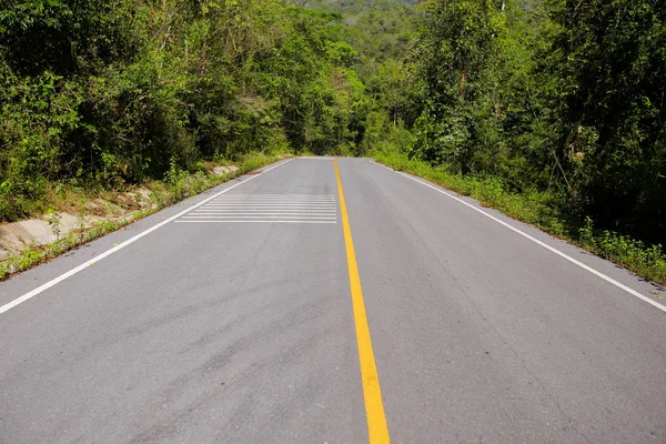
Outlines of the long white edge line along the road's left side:
{"type": "Polygon", "coordinates": [[[141,238],[143,238],[144,235],[147,235],[147,234],[150,234],[150,233],[152,233],[153,231],[155,231],[155,230],[158,230],[158,229],[161,229],[162,226],[167,225],[168,223],[170,223],[170,222],[173,222],[174,220],[176,220],[178,218],[180,218],[180,216],[182,216],[182,215],[184,215],[184,214],[189,213],[190,211],[192,211],[192,210],[194,210],[194,209],[196,209],[196,208],[199,208],[199,206],[201,206],[201,205],[205,204],[206,202],[210,202],[210,201],[212,201],[213,199],[218,198],[219,195],[221,195],[221,194],[224,194],[225,192],[228,192],[228,191],[231,191],[231,190],[233,190],[234,188],[236,188],[236,186],[239,186],[239,185],[242,185],[243,183],[246,183],[246,182],[251,181],[251,180],[252,180],[252,179],[254,179],[254,178],[259,178],[260,175],[263,175],[263,174],[268,173],[269,171],[271,171],[271,170],[273,170],[273,169],[275,169],[275,168],[278,168],[278,167],[282,167],[282,165],[284,165],[285,163],[289,163],[289,162],[291,162],[292,160],[293,160],[293,159],[289,159],[289,160],[286,160],[286,161],[284,161],[284,162],[278,163],[276,165],[273,165],[273,167],[269,168],[268,170],[264,170],[264,171],[262,171],[262,172],[261,172],[261,173],[259,173],[259,174],[253,174],[253,175],[250,175],[250,176],[249,176],[248,179],[245,179],[244,181],[242,181],[242,182],[239,182],[239,183],[236,183],[236,184],[233,184],[233,185],[231,185],[231,186],[229,186],[229,188],[226,188],[226,189],[224,189],[224,190],[220,191],[219,193],[216,193],[216,194],[214,194],[214,195],[212,195],[212,196],[210,196],[210,198],[208,198],[208,199],[204,199],[203,201],[201,201],[201,202],[199,202],[199,203],[196,203],[196,204],[194,204],[194,205],[190,206],[189,209],[186,209],[186,210],[184,210],[184,211],[181,211],[180,213],[178,213],[178,214],[175,214],[175,215],[172,215],[171,218],[169,218],[169,219],[167,219],[167,220],[164,220],[164,221],[162,221],[162,222],[158,223],[157,225],[153,225],[153,226],[151,226],[150,229],[148,229],[148,230],[145,230],[145,231],[142,231],[141,233],[137,234],[135,236],[133,236],[133,238],[131,238],[131,239],[128,239],[128,240],[127,240],[127,241],[124,241],[123,243],[121,243],[121,244],[119,244],[119,245],[117,245],[117,246],[112,248],[111,250],[107,250],[107,251],[105,251],[105,252],[103,252],[102,254],[99,254],[99,255],[97,255],[97,256],[92,258],[91,260],[89,260],[89,261],[85,261],[84,263],[82,263],[81,265],[77,266],[75,269],[72,269],[72,270],[70,270],[70,271],[68,271],[67,273],[64,273],[64,274],[61,274],[61,275],[59,275],[58,278],[56,278],[56,279],[53,279],[53,280],[51,280],[51,281],[47,282],[46,284],[38,286],[37,289],[32,290],[31,292],[29,292],[29,293],[26,293],[26,294],[23,294],[22,296],[20,296],[20,297],[17,297],[17,299],[14,299],[13,301],[11,301],[11,302],[8,302],[7,304],[4,304],[4,305],[0,306],[0,314],[2,314],[2,313],[6,313],[6,312],[8,312],[9,310],[13,309],[14,306],[17,306],[17,305],[19,305],[19,304],[22,304],[23,302],[26,302],[26,301],[28,301],[28,300],[30,300],[30,299],[32,299],[32,297],[37,296],[37,295],[38,295],[38,294],[40,294],[41,292],[43,292],[43,291],[46,291],[46,290],[49,290],[51,286],[53,286],[53,285],[56,285],[56,284],[58,284],[58,283],[60,283],[60,282],[62,282],[62,281],[64,281],[64,280],[65,280],[65,279],[68,279],[68,278],[71,278],[71,276],[73,276],[74,274],[79,273],[80,271],[82,271],[82,270],[85,270],[87,268],[91,266],[91,265],[92,265],[92,264],[94,264],[95,262],[99,262],[99,261],[101,261],[102,259],[104,259],[104,258],[107,258],[107,256],[110,256],[111,254],[115,253],[117,251],[124,249],[125,246],[130,245],[131,243],[134,243],[134,242],[137,242],[138,240],[140,240],[140,239],[141,239],[141,238]]]}

